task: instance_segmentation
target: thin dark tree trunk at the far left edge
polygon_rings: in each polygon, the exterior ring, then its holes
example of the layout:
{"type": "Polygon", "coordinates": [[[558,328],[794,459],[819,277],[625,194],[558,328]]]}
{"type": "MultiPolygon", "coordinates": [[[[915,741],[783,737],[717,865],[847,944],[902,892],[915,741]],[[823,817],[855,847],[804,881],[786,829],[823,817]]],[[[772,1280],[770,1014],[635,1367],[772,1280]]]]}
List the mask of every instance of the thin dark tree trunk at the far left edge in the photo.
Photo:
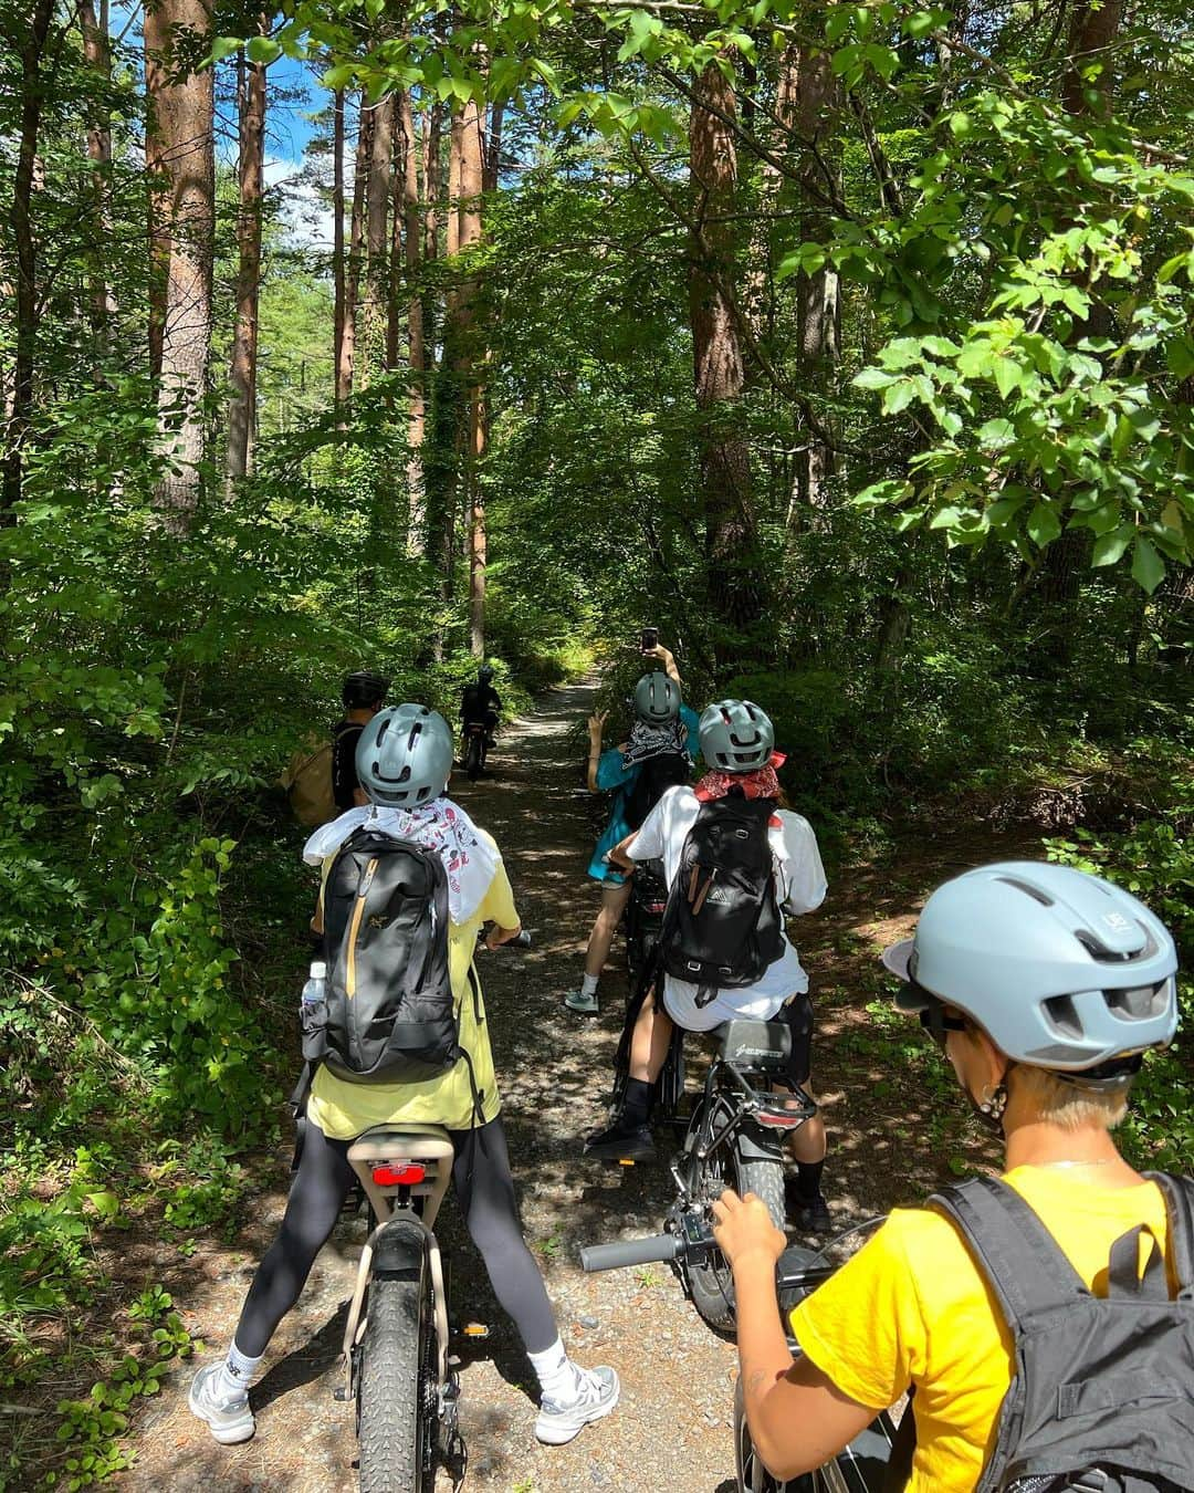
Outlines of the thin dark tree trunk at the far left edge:
{"type": "Polygon", "coordinates": [[[42,128],[42,57],[54,19],[54,0],[36,0],[27,30],[21,36],[21,137],[16,148],[16,175],[12,188],[12,237],[16,246],[16,355],[13,360],[12,399],[4,434],[4,524],[15,521],[13,506],[21,500],[24,443],[33,415],[33,366],[37,351],[37,242],[33,234],[33,175],[37,161],[37,134],[42,128]]]}

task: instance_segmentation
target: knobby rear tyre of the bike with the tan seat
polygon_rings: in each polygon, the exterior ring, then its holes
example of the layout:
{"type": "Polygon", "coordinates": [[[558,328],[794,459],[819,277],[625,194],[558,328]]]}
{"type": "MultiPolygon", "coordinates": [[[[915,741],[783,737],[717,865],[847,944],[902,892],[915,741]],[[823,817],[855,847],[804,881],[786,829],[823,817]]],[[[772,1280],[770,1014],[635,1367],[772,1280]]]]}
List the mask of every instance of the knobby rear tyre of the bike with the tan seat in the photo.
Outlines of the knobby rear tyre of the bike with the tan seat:
{"type": "Polygon", "coordinates": [[[433,1493],[436,1486],[436,1323],[427,1256],[416,1281],[369,1285],[361,1344],[361,1493],[433,1493]]]}

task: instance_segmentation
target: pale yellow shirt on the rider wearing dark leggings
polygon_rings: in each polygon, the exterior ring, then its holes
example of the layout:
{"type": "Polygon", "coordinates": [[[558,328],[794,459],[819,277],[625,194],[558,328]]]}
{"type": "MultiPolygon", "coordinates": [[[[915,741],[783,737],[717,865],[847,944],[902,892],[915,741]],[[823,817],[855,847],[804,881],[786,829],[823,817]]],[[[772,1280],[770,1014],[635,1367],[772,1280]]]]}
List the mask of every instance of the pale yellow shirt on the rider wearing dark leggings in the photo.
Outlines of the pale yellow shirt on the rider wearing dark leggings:
{"type": "MultiPolygon", "coordinates": [[[[503,929],[518,927],[510,879],[501,860],[476,912],[467,923],[449,924],[448,930],[448,969],[460,1023],[460,1045],[472,1059],[473,1079],[481,1094],[481,1112],[488,1123],[501,1109],[501,1099],[497,1093],[481,982],[476,985],[476,1008],[473,987],[469,982],[476,933],[482,923],[497,923],[503,929]]],[[[476,979],[476,970],[473,978],[476,979]]],[[[310,1085],[307,1118],[334,1141],[351,1141],[375,1124],[442,1124],[449,1130],[467,1130],[475,1123],[469,1065],[461,1059],[446,1073],[393,1085],[348,1084],[327,1067],[319,1067],[310,1085]]]]}

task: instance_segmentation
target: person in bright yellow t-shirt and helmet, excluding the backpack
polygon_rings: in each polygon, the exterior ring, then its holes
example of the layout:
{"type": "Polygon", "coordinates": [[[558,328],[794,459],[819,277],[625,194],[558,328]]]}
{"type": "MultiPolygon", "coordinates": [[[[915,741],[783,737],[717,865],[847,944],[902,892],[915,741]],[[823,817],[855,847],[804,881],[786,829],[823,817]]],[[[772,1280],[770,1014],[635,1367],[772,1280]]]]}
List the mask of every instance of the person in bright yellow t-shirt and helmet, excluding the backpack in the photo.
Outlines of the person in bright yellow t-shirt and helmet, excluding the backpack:
{"type": "MultiPolygon", "coordinates": [[[[1173,1039],[1178,957],[1164,926],[1121,888],[1063,866],[1009,861],[939,887],[913,939],[884,963],[897,997],[943,1047],[976,1114],[1006,1142],[1015,1188],[1095,1294],[1110,1245],[1137,1224],[1164,1247],[1155,1182],[1119,1156],[1142,1053],[1173,1039]]],[[[776,1478],[830,1462],[915,1387],[909,1493],[970,1493],[1012,1380],[1003,1314],[945,1215],[896,1209],[791,1314],[776,1300],[785,1248],[766,1206],[713,1205],[730,1260],[746,1418],[776,1478]]]]}

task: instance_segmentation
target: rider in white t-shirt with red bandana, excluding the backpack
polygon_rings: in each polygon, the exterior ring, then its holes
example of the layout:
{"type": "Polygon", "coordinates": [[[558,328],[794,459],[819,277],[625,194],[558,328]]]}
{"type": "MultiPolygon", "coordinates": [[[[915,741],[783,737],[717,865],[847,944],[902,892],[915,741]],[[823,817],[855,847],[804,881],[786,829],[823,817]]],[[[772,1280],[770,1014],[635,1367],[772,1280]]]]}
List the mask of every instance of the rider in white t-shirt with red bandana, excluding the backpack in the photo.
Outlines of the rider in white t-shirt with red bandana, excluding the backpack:
{"type": "MultiPolygon", "coordinates": [[[[701,805],[731,794],[767,799],[776,803],[767,827],[776,900],[793,914],[812,912],[821,906],[825,897],[825,872],[812,826],[801,815],[778,808],[781,788],[776,769],[782,766],[784,757],[775,751],[775,727],[767,714],[751,700],[719,700],[701,715],[698,736],[709,767],[706,775],[696,788],[669,790],[642,829],[618,845],[610,858],[619,866],[663,858],[670,890],[676,882],[688,832],[701,805]]],[[[688,981],[670,973],[664,976],[663,1006],[655,996],[648,996],[634,1027],[622,1112],[609,1130],[588,1139],[587,1156],[621,1160],[654,1153],[648,1120],[654,1084],[672,1041],[673,1021],[688,1032],[712,1032],[734,1017],[770,1021],[782,1012],[793,1036],[790,1078],[807,1091],[813,1029],[809,976],[782,933],[779,944],[779,957],[757,982],[718,990],[709,1000],[700,999],[698,988],[688,981]]],[[[831,1220],[821,1193],[825,1124],[819,1114],[794,1133],[791,1145],[797,1163],[796,1221],[806,1232],[822,1233],[831,1220]]]]}

